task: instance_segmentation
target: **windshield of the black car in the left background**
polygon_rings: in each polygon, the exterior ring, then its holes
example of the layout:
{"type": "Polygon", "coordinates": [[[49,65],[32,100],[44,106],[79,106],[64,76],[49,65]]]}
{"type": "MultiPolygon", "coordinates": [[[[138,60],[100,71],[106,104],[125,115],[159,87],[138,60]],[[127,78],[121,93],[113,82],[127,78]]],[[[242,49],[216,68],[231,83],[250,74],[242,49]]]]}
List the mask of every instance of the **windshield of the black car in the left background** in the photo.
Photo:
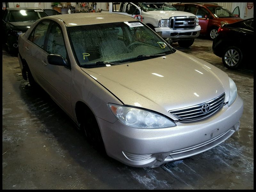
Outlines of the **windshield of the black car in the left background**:
{"type": "Polygon", "coordinates": [[[12,10],[10,11],[10,22],[36,21],[48,15],[42,10],[12,10]]]}

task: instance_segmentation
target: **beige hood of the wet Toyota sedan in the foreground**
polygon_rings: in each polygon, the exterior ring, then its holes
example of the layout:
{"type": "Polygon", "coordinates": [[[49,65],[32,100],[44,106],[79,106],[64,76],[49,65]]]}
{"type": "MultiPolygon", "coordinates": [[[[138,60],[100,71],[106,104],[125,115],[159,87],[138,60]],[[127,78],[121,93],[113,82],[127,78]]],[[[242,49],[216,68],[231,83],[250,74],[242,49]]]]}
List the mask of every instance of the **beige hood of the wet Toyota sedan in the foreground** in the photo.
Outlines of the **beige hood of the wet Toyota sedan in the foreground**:
{"type": "Polygon", "coordinates": [[[170,55],[110,67],[82,68],[125,105],[169,115],[169,110],[204,103],[226,93],[228,75],[213,65],[176,51],[170,55]]]}

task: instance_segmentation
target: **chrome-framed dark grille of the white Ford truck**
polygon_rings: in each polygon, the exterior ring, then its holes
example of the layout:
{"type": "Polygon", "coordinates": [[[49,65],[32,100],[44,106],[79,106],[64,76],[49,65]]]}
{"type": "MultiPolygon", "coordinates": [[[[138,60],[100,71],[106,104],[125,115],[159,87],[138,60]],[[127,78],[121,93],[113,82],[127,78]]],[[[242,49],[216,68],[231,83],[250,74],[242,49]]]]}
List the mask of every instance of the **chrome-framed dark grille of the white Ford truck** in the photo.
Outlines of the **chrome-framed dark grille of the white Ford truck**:
{"type": "Polygon", "coordinates": [[[194,29],[196,27],[196,17],[170,17],[169,27],[172,29],[194,29]]]}

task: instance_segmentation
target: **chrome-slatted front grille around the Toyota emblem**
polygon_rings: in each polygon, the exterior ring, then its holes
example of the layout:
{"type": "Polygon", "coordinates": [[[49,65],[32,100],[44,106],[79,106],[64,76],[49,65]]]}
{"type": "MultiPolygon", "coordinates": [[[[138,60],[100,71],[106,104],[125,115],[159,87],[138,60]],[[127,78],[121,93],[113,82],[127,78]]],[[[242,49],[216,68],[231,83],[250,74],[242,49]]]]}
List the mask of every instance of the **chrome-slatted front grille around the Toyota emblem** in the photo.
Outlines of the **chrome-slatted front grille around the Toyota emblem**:
{"type": "Polygon", "coordinates": [[[210,101],[207,101],[192,107],[171,110],[169,111],[169,113],[177,117],[180,121],[198,120],[198,119],[202,119],[207,116],[210,116],[214,112],[216,112],[219,108],[222,107],[224,100],[225,100],[225,93],[223,93],[219,97],[216,97],[215,99],[212,99],[210,101]],[[210,105],[210,110],[204,113],[202,111],[202,107],[205,104],[210,105]]]}

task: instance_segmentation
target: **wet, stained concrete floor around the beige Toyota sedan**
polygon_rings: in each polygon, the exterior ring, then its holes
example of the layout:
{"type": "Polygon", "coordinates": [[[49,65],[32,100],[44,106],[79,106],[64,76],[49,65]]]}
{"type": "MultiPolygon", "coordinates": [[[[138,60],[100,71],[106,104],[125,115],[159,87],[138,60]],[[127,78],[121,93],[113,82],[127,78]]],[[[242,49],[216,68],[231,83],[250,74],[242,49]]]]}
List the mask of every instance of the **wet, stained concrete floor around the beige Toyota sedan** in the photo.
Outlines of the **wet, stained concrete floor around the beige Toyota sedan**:
{"type": "Polygon", "coordinates": [[[3,49],[3,189],[253,189],[253,69],[228,70],[198,38],[180,51],[226,72],[244,100],[238,132],[202,154],[158,168],[134,168],[100,154],[44,92],[22,79],[3,49]]]}

